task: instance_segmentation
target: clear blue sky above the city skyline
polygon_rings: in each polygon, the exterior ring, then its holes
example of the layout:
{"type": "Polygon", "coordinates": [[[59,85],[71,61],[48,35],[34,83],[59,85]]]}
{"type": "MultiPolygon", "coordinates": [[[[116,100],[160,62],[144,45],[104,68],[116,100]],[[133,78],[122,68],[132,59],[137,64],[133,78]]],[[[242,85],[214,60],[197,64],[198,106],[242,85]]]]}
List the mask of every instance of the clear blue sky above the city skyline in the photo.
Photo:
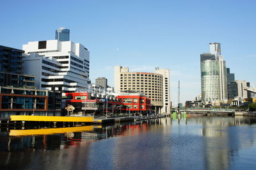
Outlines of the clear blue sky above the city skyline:
{"type": "Polygon", "coordinates": [[[107,77],[115,65],[131,71],[171,70],[171,95],[192,100],[200,90],[200,54],[220,42],[237,80],[256,85],[256,1],[1,1],[0,45],[22,48],[54,39],[70,29],[70,39],[90,50],[90,79],[107,77]]]}

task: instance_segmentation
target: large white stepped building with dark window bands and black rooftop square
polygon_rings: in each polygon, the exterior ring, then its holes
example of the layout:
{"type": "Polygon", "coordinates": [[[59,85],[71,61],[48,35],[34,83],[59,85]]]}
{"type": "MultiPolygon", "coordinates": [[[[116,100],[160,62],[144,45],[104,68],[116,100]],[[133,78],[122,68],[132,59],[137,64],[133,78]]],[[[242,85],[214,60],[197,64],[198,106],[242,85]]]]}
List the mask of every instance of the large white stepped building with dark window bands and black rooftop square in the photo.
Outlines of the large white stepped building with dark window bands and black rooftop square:
{"type": "Polygon", "coordinates": [[[36,88],[88,91],[90,52],[80,43],[47,40],[28,42],[24,73],[35,75],[36,88]]]}

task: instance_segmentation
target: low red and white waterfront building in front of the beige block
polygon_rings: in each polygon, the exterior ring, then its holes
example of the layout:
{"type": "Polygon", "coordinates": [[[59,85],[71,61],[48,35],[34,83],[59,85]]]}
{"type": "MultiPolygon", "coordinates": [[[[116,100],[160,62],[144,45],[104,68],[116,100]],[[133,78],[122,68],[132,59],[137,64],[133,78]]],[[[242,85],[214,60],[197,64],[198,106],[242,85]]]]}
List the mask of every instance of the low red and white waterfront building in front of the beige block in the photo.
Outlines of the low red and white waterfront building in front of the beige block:
{"type": "Polygon", "coordinates": [[[150,114],[150,98],[137,93],[111,95],[100,93],[65,93],[65,107],[73,105],[76,114],[150,114]]]}

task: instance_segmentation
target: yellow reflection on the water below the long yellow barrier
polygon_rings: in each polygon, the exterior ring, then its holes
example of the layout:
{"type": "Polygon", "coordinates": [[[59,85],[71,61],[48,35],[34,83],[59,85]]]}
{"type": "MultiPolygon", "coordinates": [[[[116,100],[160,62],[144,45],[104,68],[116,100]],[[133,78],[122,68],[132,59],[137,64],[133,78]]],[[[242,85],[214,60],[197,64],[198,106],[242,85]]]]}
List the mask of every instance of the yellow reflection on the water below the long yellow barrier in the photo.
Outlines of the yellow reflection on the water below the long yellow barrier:
{"type": "Polygon", "coordinates": [[[67,128],[39,128],[29,130],[10,130],[10,135],[47,135],[63,134],[67,132],[92,131],[93,126],[86,127],[67,127],[67,128]]]}

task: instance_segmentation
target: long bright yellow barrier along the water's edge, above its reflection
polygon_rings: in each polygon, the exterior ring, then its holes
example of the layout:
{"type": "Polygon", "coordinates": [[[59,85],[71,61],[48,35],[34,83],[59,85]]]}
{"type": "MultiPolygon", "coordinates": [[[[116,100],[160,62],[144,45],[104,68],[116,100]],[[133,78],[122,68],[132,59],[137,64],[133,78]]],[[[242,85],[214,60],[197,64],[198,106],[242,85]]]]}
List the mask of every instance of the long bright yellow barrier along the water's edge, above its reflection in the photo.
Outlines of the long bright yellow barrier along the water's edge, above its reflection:
{"type": "Polygon", "coordinates": [[[93,117],[76,116],[24,116],[12,115],[11,121],[64,121],[64,122],[93,122],[93,117]]]}

